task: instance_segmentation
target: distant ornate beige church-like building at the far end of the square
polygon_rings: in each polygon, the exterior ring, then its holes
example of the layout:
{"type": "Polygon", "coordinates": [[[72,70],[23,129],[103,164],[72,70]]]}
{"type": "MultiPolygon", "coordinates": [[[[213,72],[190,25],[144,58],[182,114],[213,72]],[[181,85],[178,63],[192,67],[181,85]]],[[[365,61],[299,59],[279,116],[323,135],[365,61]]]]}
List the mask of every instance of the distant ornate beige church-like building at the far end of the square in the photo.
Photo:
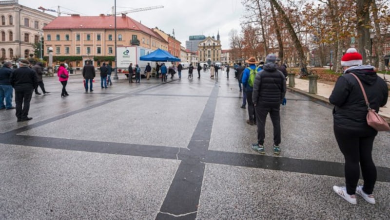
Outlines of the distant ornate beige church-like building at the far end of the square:
{"type": "Polygon", "coordinates": [[[199,42],[198,45],[199,62],[208,63],[209,65],[221,62],[221,41],[219,34],[217,39],[215,37],[206,37],[206,39],[199,42]]]}

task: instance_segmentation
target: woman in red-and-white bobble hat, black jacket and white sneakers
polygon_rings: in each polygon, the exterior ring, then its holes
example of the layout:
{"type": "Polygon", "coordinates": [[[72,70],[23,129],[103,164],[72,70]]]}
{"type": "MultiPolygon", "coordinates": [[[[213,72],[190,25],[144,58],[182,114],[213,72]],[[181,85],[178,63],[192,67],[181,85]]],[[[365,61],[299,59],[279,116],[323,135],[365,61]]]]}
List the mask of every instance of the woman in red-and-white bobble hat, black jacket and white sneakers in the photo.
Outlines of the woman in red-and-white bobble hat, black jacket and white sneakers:
{"type": "Polygon", "coordinates": [[[356,195],[375,204],[373,189],[376,182],[376,168],[372,161],[372,145],[378,134],[367,124],[367,111],[363,92],[355,74],[367,94],[370,108],[376,112],[386,105],[389,90],[386,82],[378,77],[375,67],[362,65],[362,55],[350,48],[341,58],[344,74],[334,85],[329,101],[333,108],[333,130],[340,151],[345,158],[346,186],[333,186],[333,191],[343,199],[356,204],[356,195]],[[360,166],[359,166],[360,164],[360,166]],[[362,170],[363,185],[357,185],[362,170]]]}

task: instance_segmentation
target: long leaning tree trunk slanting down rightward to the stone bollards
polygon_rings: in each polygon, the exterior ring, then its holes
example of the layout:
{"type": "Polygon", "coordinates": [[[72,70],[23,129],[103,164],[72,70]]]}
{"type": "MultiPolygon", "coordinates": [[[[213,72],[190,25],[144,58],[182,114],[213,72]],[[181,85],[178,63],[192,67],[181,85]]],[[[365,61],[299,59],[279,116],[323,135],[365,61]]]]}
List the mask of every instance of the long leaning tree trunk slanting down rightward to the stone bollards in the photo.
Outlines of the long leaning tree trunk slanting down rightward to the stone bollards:
{"type": "Polygon", "coordinates": [[[306,70],[307,69],[306,68],[306,56],[305,56],[305,53],[303,52],[302,44],[299,41],[298,37],[296,36],[295,30],[292,27],[292,24],[291,24],[289,18],[287,17],[286,13],[284,13],[282,7],[280,7],[279,3],[276,0],[270,0],[270,2],[271,2],[271,4],[273,4],[276,11],[279,13],[279,15],[282,17],[283,21],[286,23],[287,30],[289,31],[289,33],[291,35],[292,42],[295,45],[295,50],[297,51],[298,56],[299,56],[300,67],[304,68],[306,70]]]}

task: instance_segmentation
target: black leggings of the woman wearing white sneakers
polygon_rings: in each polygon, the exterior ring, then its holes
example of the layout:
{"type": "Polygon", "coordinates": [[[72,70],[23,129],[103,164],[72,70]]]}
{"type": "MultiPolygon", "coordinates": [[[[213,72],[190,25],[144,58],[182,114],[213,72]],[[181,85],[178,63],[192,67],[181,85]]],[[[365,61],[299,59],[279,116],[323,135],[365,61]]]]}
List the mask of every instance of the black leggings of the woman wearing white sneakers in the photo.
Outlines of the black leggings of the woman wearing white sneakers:
{"type": "Polygon", "coordinates": [[[372,194],[376,182],[376,168],[372,161],[372,144],[377,132],[374,135],[364,132],[338,128],[333,126],[334,136],[337,144],[345,158],[345,183],[347,193],[355,194],[357,182],[360,176],[360,166],[364,180],[363,191],[372,194]]]}

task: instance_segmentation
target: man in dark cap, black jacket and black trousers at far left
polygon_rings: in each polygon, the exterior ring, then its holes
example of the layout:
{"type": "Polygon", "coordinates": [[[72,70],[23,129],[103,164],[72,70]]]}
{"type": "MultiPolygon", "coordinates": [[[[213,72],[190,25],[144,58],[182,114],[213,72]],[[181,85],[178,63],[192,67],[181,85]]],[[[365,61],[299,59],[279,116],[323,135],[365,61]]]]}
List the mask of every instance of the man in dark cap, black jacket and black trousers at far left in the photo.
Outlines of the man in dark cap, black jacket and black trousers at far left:
{"type": "Polygon", "coordinates": [[[18,122],[28,121],[31,96],[38,85],[37,74],[32,70],[28,60],[19,61],[20,68],[14,70],[10,76],[10,83],[15,89],[16,117],[18,122]]]}

